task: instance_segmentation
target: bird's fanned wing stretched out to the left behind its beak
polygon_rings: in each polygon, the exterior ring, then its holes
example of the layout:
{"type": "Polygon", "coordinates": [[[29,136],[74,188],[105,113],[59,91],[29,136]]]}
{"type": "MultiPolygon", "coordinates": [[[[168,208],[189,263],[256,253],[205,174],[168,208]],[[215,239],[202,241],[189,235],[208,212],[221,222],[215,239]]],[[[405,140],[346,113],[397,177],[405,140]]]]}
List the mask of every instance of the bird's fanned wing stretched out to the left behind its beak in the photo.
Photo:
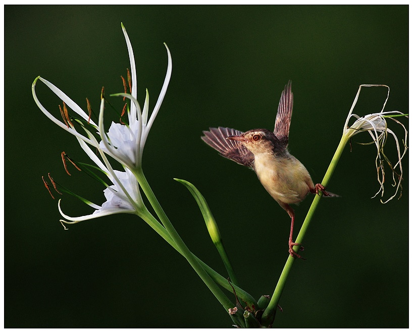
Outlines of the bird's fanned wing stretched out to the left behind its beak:
{"type": "Polygon", "coordinates": [[[217,150],[222,156],[229,158],[238,164],[253,168],[254,154],[244,147],[239,141],[227,140],[231,135],[241,135],[242,132],[232,128],[210,128],[209,131],[203,131],[201,139],[217,150]]]}

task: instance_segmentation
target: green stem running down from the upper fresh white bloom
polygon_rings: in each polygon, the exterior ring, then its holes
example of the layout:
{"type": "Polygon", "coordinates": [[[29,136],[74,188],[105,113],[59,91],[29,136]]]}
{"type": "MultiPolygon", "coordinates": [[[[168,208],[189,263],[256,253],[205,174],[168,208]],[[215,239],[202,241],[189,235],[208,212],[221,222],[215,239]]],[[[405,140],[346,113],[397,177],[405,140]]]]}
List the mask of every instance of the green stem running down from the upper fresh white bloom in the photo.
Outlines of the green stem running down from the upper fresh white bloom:
{"type": "MultiPolygon", "coordinates": [[[[175,246],[178,251],[188,260],[189,264],[193,267],[202,281],[207,285],[207,287],[211,290],[214,296],[218,299],[218,301],[222,304],[222,306],[228,310],[234,306],[233,302],[231,302],[228,297],[222,292],[222,290],[218,287],[218,285],[214,282],[211,276],[205,271],[202,265],[199,263],[197,258],[189,251],[186,244],[183,242],[181,237],[178,235],[177,231],[173,227],[171,221],[169,220],[168,216],[166,215],[165,211],[161,207],[158,199],[152,192],[145,176],[143,175],[142,170],[134,171],[134,175],[137,178],[139,185],[141,186],[143,192],[145,193],[146,197],[148,198],[150,204],[152,205],[153,209],[161,219],[162,224],[164,225],[167,233],[172,238],[175,246]]],[[[171,244],[172,245],[172,244],[171,244]]]]}

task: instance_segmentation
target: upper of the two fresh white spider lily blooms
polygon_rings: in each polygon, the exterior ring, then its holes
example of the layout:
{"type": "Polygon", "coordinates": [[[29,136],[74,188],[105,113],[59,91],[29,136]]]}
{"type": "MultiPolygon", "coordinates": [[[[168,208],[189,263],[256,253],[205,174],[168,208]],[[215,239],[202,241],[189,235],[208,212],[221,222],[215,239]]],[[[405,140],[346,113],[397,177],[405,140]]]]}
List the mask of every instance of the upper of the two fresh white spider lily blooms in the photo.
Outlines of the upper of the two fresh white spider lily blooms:
{"type": "MultiPolygon", "coordinates": [[[[147,136],[149,134],[150,128],[158,115],[159,109],[161,104],[164,100],[168,84],[171,78],[172,73],[172,58],[171,53],[168,49],[168,46],[165,44],[168,53],[168,68],[165,77],[165,81],[163,87],[161,89],[160,95],[158,97],[158,101],[155,104],[151,116],[148,119],[148,110],[149,110],[149,95],[146,91],[146,98],[143,106],[143,113],[137,101],[137,88],[136,88],[136,67],[135,67],[135,59],[133,55],[132,45],[130,43],[128,34],[126,33],[126,29],[122,24],[122,30],[126,39],[126,44],[128,47],[129,52],[129,60],[130,60],[130,67],[131,67],[131,94],[118,94],[121,96],[126,96],[131,100],[131,106],[128,110],[128,125],[112,123],[111,127],[109,128],[109,132],[106,133],[104,125],[103,125],[103,114],[104,114],[104,104],[100,104],[100,112],[99,112],[99,123],[98,125],[95,124],[88,113],[84,112],[84,110],[76,104],[72,99],[70,99],[63,91],[61,91],[58,87],[54,84],[50,83],[49,81],[41,78],[40,76],[37,77],[32,85],[32,94],[33,98],[40,108],[40,110],[55,124],[59,125],[64,130],[68,131],[69,133],[75,135],[78,139],[82,140],[83,142],[94,146],[95,148],[102,148],[107,154],[118,160],[124,167],[129,168],[130,170],[139,170],[142,165],[142,153],[143,147],[145,145],[147,136]],[[92,140],[90,135],[83,135],[77,131],[75,126],[70,122],[67,124],[58,120],[56,117],[51,115],[50,112],[40,103],[39,99],[37,98],[35,92],[35,86],[37,80],[43,82],[47,87],[50,88],[69,108],[71,108],[76,114],[78,114],[81,118],[88,122],[91,126],[95,127],[97,130],[97,134],[100,137],[100,143],[95,140],[92,140]]],[[[85,130],[85,128],[83,127],[85,130]]]]}

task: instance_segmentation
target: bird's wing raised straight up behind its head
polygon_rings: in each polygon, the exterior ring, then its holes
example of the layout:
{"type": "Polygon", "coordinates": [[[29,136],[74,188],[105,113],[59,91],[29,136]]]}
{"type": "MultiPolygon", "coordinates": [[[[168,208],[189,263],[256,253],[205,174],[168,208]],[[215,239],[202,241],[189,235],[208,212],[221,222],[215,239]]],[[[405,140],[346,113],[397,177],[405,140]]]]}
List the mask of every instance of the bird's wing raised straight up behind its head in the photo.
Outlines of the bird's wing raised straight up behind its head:
{"type": "Polygon", "coordinates": [[[275,118],[274,134],[287,147],[288,133],[290,131],[292,115],[293,95],[291,92],[291,80],[285,86],[280,103],[278,104],[277,117],[275,118]]]}

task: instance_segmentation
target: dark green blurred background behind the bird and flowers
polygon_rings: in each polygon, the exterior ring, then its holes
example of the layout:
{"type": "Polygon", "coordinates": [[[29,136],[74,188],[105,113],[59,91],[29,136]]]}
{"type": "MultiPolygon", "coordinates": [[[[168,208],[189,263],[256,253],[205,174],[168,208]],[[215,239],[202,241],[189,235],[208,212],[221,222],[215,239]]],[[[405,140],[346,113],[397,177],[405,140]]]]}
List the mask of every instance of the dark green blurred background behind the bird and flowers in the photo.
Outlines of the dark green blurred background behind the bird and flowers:
{"type": "MultiPolygon", "coordinates": [[[[87,161],[74,137],[35,105],[38,75],[97,110],[100,89],[123,90],[130,36],[138,99],[153,108],[171,50],[173,73],[145,146],[143,167],[190,249],[225,275],[197,206],[173,178],[195,184],[213,210],[241,287],[272,294],[287,259],[289,217],[253,172],[220,157],[202,130],[272,129],[293,82],[289,148],[320,182],[359,84],[391,87],[386,110],[408,112],[407,6],[6,6],[5,326],[230,327],[232,321],[175,250],[133,215],[69,226],[41,176],[101,203],[102,188],[66,175],[60,153],[87,161]]],[[[42,103],[58,99],[39,84],[42,103]]],[[[378,112],[385,90],[362,91],[356,112],[378,112]]],[[[121,107],[122,101],[112,102],[121,107]]],[[[110,118],[106,114],[107,126],[110,118]]],[[[404,121],[404,120],[403,120],[404,121]]],[[[407,123],[404,121],[404,123],[407,123]]],[[[399,132],[398,132],[399,133],[399,132]]],[[[355,141],[369,141],[365,136],[355,141]]],[[[388,152],[394,160],[392,139],[388,152]]],[[[375,148],[353,142],[305,237],[275,327],[408,326],[408,156],[400,200],[378,190],[375,148]]],[[[387,194],[393,188],[390,173],[387,194]]],[[[311,204],[296,210],[296,232],[311,204]]],[[[90,213],[63,196],[68,214],[90,213]]],[[[231,294],[228,294],[232,297],[231,294]]]]}

